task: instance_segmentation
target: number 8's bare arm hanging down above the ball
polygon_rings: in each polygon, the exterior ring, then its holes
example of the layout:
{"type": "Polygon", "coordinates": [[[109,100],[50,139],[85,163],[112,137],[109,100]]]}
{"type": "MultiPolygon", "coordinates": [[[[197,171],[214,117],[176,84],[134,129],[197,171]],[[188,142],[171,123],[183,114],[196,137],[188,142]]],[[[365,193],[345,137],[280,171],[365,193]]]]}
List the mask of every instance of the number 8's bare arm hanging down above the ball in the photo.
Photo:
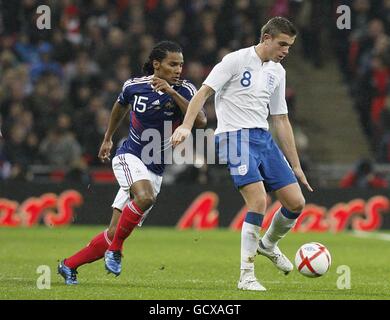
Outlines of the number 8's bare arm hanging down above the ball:
{"type": "Polygon", "coordinates": [[[299,161],[297,148],[295,146],[294,133],[288,119],[287,114],[273,115],[272,123],[275,128],[276,136],[278,137],[280,148],[282,149],[287,160],[290,162],[295,176],[309,191],[313,191],[307,181],[306,175],[302,170],[299,161]]]}

